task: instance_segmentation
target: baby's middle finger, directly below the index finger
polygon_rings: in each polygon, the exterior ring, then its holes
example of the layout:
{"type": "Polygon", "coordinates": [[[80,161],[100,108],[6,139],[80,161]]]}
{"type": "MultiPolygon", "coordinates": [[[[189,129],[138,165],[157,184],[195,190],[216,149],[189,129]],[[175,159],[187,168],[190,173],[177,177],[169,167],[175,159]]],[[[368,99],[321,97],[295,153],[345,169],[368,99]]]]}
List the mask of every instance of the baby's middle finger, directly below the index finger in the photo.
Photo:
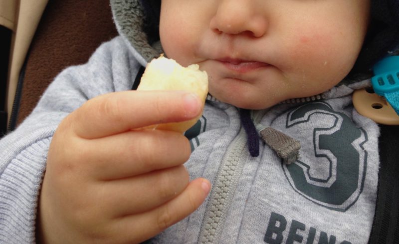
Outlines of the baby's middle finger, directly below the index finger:
{"type": "Polygon", "coordinates": [[[88,140],[85,150],[75,156],[94,155],[80,165],[80,171],[107,181],[176,167],[184,164],[190,154],[190,143],[180,133],[139,130],[88,140]]]}

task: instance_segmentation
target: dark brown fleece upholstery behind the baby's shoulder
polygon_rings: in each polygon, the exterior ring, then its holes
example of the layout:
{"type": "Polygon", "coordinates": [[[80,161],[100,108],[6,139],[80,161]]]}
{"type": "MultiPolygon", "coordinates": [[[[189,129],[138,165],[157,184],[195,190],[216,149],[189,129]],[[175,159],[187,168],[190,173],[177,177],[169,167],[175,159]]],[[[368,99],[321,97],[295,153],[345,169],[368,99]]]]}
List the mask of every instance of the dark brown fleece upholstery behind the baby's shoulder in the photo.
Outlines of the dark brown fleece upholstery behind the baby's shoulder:
{"type": "Polygon", "coordinates": [[[62,69],[85,63],[116,35],[109,0],[49,0],[27,57],[17,124],[62,69]]]}

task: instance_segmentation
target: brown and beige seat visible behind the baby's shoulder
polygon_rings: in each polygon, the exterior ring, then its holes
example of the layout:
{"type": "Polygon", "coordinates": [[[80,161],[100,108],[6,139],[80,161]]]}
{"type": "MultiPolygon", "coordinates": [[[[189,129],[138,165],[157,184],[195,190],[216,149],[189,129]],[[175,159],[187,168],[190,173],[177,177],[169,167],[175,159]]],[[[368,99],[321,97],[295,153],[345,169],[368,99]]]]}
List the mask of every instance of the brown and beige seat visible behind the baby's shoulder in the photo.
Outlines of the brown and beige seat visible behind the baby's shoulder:
{"type": "Polygon", "coordinates": [[[0,137],[62,69],[116,35],[109,0],[0,0],[0,137]]]}

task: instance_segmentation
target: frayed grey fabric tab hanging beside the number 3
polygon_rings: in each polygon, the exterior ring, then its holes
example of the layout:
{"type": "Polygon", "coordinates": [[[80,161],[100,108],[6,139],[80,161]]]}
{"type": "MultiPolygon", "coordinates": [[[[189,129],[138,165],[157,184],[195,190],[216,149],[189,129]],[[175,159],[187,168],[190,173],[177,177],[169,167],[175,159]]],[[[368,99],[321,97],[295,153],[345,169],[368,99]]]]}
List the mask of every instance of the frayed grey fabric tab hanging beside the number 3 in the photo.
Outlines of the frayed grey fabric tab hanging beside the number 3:
{"type": "Polygon", "coordinates": [[[301,148],[299,141],[271,127],[261,130],[260,136],[284,160],[284,163],[292,164],[298,159],[301,148]]]}

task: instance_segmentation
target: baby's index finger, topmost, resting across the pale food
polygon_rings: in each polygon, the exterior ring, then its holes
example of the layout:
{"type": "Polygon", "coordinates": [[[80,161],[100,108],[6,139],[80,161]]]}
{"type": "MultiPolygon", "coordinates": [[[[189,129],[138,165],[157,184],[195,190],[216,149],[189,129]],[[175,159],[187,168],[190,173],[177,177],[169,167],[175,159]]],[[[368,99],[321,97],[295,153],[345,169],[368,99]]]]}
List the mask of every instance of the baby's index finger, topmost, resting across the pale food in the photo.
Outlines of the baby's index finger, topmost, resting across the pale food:
{"type": "Polygon", "coordinates": [[[200,114],[198,96],[182,91],[122,91],[101,95],[70,119],[78,136],[101,138],[153,124],[181,122],[200,114]]]}

